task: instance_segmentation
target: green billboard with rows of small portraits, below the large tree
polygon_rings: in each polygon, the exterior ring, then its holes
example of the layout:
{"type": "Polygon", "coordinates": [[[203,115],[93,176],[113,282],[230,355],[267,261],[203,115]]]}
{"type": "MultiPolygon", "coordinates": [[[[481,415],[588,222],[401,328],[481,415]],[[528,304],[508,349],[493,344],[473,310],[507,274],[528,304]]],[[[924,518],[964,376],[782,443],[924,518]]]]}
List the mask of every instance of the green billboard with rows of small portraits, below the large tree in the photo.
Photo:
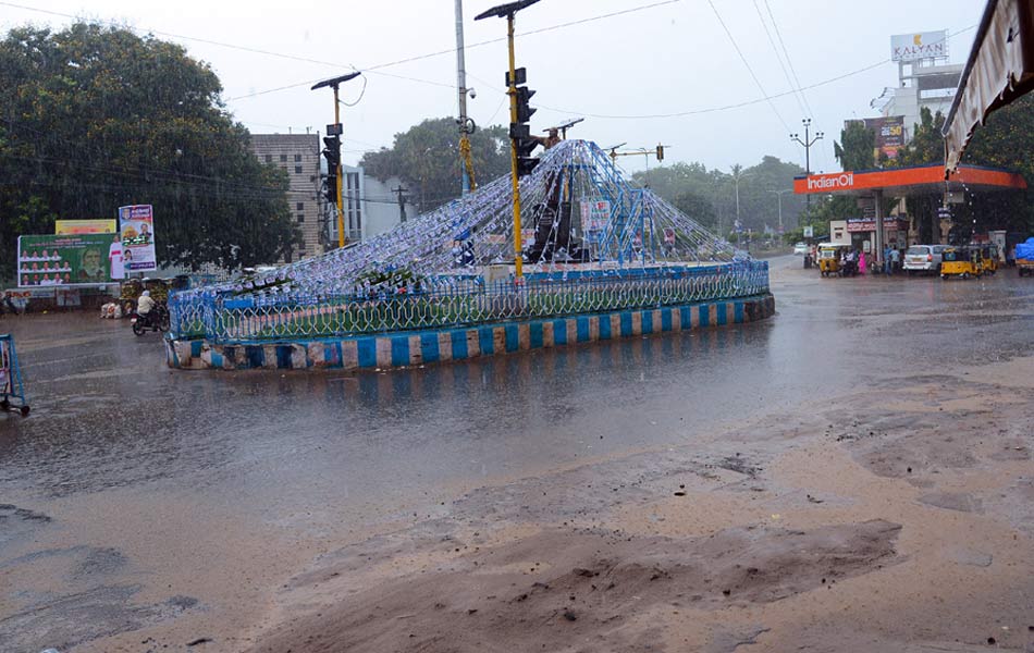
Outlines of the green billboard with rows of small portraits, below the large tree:
{"type": "Polygon", "coordinates": [[[19,236],[19,287],[108,283],[118,247],[116,234],[19,236]]]}

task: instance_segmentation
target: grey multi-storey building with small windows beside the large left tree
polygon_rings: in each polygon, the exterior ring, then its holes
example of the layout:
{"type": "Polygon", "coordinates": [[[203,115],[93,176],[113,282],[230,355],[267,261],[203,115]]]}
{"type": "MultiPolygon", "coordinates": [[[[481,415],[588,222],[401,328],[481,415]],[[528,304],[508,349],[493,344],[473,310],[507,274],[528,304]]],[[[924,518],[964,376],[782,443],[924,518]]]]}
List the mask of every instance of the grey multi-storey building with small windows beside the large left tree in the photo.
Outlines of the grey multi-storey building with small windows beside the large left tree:
{"type": "Polygon", "coordinates": [[[319,134],[251,134],[251,150],[259,161],[279,165],[287,173],[291,219],[301,232],[301,244],[292,259],[322,254],[319,134]]]}

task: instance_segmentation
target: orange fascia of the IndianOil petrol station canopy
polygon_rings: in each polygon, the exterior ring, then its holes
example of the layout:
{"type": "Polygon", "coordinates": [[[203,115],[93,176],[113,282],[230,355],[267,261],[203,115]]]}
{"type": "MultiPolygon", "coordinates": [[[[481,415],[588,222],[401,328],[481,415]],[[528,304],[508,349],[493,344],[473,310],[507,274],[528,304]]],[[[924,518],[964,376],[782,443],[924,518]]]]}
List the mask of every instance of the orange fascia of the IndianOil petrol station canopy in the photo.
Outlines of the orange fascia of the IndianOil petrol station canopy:
{"type": "MultiPolygon", "coordinates": [[[[1032,0],[1034,2],[1034,0],[1032,0]]],[[[877,190],[890,197],[936,195],[945,190],[1009,190],[1026,188],[1023,177],[1008,170],[959,165],[948,182],[937,164],[861,172],[834,172],[793,178],[795,195],[853,195],[871,197],[877,190]]]]}

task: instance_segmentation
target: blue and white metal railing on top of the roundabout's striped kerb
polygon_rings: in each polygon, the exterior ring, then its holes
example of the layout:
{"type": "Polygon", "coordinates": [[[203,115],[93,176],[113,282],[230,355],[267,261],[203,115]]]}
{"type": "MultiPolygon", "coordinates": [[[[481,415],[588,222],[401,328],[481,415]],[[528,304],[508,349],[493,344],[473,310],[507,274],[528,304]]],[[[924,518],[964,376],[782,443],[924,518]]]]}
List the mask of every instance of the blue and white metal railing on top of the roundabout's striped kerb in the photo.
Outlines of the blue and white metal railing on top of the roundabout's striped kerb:
{"type": "Polygon", "coordinates": [[[731,299],[768,292],[768,264],[538,273],[521,283],[440,276],[347,295],[173,295],[172,337],[234,343],[444,329],[731,299]]]}

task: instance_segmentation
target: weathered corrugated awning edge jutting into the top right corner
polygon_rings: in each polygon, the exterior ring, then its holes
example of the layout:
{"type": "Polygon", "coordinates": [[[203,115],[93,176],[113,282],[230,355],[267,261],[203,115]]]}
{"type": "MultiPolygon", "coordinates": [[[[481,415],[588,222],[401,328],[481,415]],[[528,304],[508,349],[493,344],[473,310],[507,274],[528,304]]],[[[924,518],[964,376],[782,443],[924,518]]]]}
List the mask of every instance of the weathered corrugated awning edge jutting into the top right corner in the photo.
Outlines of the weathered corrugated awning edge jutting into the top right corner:
{"type": "Polygon", "coordinates": [[[988,0],[941,133],[947,177],[977,125],[1034,89],[1034,0],[988,0]]]}

